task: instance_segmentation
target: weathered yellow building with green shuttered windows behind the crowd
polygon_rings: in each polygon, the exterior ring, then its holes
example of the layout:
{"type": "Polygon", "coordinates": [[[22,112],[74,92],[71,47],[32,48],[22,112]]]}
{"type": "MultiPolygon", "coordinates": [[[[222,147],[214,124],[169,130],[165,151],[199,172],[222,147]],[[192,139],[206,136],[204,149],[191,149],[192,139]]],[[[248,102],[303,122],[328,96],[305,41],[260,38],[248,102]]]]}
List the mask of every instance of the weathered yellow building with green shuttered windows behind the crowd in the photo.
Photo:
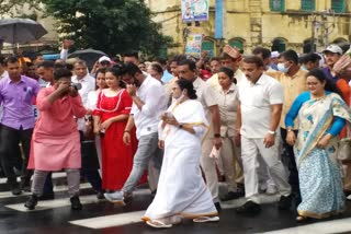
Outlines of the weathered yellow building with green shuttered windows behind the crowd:
{"type": "MultiPolygon", "coordinates": [[[[146,0],[161,23],[161,32],[178,44],[168,54],[183,52],[189,25],[182,23],[181,0],[146,0]]],[[[272,50],[295,49],[319,51],[332,42],[351,37],[350,0],[223,0],[223,38],[215,35],[215,0],[210,0],[210,21],[201,22],[203,49],[218,55],[223,45],[230,44],[249,54],[256,46],[272,50]]],[[[193,24],[194,26],[194,24],[193,24]]]]}

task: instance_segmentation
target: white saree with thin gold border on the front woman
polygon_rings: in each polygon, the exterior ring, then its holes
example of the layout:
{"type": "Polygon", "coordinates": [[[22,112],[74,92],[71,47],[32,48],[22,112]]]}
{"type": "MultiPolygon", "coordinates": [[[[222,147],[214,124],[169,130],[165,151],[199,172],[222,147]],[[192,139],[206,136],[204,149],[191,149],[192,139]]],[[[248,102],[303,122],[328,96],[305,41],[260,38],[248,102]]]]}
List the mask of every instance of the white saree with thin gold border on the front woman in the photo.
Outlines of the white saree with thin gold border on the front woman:
{"type": "Polygon", "coordinates": [[[200,169],[201,141],[208,124],[200,102],[189,100],[169,109],[180,124],[193,125],[195,134],[174,126],[166,125],[165,155],[152,203],[143,220],[182,215],[196,218],[217,215],[200,169]]]}

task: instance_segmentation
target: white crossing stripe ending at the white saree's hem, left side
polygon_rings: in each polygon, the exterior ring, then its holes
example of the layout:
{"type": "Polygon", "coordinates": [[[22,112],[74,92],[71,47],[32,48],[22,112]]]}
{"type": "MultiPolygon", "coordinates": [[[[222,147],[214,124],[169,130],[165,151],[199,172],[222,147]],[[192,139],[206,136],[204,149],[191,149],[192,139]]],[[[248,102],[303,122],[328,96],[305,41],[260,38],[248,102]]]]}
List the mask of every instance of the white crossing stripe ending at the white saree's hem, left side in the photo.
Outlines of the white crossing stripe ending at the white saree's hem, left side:
{"type": "Polygon", "coordinates": [[[139,223],[141,222],[140,218],[144,214],[145,214],[145,210],[141,210],[141,211],[135,211],[135,212],[121,213],[121,214],[69,221],[69,223],[79,225],[79,226],[84,226],[88,229],[99,230],[99,229],[105,229],[110,226],[122,226],[122,225],[127,225],[132,223],[139,223]]]}

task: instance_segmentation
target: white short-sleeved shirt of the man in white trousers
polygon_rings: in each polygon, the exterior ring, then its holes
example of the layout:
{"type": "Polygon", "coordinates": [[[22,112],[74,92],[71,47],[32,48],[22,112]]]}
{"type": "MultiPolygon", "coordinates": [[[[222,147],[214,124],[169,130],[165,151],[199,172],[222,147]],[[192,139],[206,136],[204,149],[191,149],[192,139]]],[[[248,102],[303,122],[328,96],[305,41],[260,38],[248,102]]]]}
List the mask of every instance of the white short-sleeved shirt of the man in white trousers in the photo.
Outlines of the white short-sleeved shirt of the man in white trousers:
{"type": "Polygon", "coordinates": [[[263,73],[254,84],[249,80],[241,80],[238,87],[240,133],[246,138],[264,138],[270,130],[271,105],[284,102],[283,86],[274,78],[263,73]]]}

